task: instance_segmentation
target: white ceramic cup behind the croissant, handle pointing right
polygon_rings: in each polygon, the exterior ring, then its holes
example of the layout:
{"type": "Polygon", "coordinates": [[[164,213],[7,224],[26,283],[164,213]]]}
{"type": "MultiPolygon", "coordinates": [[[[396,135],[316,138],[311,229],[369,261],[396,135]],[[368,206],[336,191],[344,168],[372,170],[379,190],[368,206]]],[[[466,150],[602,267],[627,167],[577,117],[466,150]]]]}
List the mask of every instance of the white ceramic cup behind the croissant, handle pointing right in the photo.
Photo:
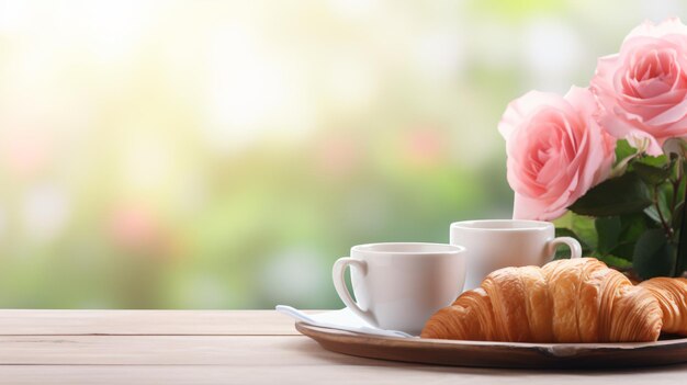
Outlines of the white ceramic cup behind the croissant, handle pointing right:
{"type": "Polygon", "coordinates": [[[543,265],[555,256],[558,245],[571,249],[571,258],[582,257],[575,238],[555,238],[550,222],[488,219],[451,224],[451,245],[465,248],[468,274],[464,290],[478,287],[488,273],[507,267],[543,265]]]}

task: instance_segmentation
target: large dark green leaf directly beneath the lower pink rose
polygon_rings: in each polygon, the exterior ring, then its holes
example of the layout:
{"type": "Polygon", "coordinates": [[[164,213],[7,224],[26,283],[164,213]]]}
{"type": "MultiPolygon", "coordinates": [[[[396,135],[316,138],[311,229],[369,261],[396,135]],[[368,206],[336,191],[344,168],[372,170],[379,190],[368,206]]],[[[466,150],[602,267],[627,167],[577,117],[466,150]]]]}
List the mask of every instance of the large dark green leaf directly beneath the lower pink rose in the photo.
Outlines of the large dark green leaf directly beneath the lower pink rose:
{"type": "Polygon", "coordinates": [[[652,203],[649,188],[634,172],[609,179],[578,199],[568,208],[582,215],[613,216],[637,213],[652,203]]]}

